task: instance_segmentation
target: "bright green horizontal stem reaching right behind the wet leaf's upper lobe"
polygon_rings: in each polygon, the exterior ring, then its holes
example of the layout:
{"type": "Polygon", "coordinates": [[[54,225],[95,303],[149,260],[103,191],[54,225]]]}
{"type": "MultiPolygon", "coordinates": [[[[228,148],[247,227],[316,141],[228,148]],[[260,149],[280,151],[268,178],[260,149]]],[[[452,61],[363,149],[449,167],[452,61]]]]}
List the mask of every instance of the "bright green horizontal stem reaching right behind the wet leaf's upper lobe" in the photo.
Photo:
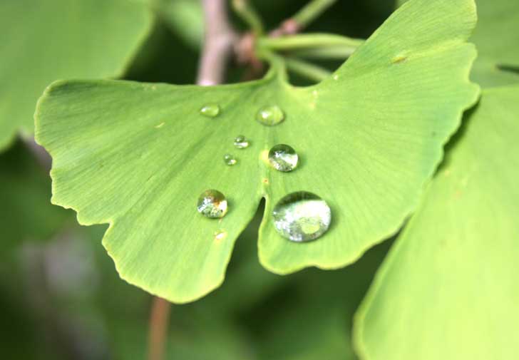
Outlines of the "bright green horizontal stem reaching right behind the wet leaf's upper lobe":
{"type": "Polygon", "coordinates": [[[363,43],[363,40],[335,34],[300,34],[279,38],[259,38],[257,46],[272,51],[300,50],[309,48],[345,48],[351,51],[363,43]]]}

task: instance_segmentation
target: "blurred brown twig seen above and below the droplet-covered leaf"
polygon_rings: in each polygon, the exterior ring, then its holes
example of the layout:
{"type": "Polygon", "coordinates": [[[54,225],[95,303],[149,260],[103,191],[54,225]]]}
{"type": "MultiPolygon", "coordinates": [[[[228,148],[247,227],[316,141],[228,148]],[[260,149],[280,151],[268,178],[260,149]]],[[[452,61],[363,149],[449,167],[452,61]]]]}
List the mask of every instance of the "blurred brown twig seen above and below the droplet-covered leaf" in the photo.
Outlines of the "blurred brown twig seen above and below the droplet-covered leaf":
{"type": "MultiPolygon", "coordinates": [[[[227,18],[225,0],[202,0],[205,19],[205,38],[198,67],[197,84],[212,86],[225,78],[227,60],[237,35],[227,18]]],[[[150,314],[148,360],[164,359],[171,304],[153,297],[150,314]]]]}

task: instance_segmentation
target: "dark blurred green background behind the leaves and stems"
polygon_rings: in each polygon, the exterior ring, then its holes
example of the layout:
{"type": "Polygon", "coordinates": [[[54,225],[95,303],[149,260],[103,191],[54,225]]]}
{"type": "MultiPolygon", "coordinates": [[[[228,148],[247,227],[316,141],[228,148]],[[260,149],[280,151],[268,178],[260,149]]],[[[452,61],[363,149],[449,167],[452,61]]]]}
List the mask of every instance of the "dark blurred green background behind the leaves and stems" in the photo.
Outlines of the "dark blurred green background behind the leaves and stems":
{"type": "MultiPolygon", "coordinates": [[[[252,3],[273,28],[306,1],[252,3]]],[[[155,3],[158,21],[125,78],[194,82],[202,34],[197,4],[155,3]]],[[[393,9],[389,0],[338,1],[308,31],[366,38],[393,9]]],[[[322,65],[333,70],[339,63],[322,65]]],[[[228,81],[241,81],[244,71],[231,63],[228,81]]],[[[50,204],[46,164],[30,148],[19,140],[0,154],[2,356],[145,359],[152,297],[119,279],[101,245],[105,227],[81,227],[71,210],[50,204]]],[[[257,260],[261,215],[262,207],[237,240],[222,287],[192,304],[173,305],[167,359],[355,359],[351,317],[390,242],[344,269],[280,277],[257,260]]]]}

